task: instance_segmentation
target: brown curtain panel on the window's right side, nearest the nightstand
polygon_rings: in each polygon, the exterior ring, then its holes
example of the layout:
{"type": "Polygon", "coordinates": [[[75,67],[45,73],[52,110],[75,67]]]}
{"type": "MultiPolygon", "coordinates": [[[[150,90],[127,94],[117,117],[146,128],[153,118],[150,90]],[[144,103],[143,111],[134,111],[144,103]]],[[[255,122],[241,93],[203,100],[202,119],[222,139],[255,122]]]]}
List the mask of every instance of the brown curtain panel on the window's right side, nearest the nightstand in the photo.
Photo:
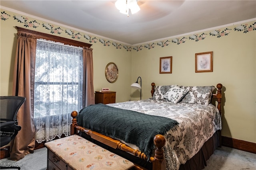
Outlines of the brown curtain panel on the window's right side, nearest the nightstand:
{"type": "Polygon", "coordinates": [[[83,48],[83,107],[95,104],[93,87],[92,48],[83,48]]]}

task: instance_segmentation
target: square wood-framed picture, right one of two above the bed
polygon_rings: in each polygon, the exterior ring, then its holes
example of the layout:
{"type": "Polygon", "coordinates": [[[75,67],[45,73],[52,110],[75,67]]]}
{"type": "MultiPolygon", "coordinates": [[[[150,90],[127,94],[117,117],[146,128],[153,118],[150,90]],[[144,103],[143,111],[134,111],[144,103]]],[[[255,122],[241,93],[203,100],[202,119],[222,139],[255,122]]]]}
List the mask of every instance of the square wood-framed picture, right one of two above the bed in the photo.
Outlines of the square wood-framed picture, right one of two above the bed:
{"type": "Polygon", "coordinates": [[[212,72],[212,53],[196,53],[196,72],[212,72]]]}

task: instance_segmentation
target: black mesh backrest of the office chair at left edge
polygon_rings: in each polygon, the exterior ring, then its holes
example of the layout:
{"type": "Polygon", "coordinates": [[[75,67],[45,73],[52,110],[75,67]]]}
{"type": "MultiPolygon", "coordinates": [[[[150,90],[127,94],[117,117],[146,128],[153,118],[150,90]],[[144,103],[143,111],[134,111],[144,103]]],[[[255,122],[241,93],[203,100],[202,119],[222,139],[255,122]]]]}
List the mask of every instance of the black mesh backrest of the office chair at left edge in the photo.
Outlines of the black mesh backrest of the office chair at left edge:
{"type": "Polygon", "coordinates": [[[15,121],[18,110],[25,100],[25,97],[20,96],[0,96],[1,122],[15,121]]]}

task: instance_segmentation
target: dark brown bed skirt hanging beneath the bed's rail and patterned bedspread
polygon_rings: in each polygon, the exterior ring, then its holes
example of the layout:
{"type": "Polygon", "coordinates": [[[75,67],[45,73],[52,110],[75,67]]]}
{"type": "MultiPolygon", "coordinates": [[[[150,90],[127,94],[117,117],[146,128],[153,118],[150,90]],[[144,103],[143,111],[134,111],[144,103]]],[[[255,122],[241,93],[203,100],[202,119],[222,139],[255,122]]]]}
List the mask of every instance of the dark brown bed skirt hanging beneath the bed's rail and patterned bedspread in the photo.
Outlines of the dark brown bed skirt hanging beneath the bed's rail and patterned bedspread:
{"type": "MultiPolygon", "coordinates": [[[[130,160],[134,164],[138,164],[148,170],[152,170],[152,164],[150,162],[147,162],[138,157],[132,156],[128,152],[124,152],[119,149],[113,149],[112,147],[109,147],[105,144],[95,141],[94,139],[91,139],[91,137],[89,135],[87,135],[86,133],[82,133],[82,134],[80,134],[80,136],[92,141],[96,145],[100,145],[101,147],[109,150],[110,152],[114,152],[114,153],[130,160]]],[[[208,160],[210,158],[210,156],[214,153],[214,150],[218,146],[220,146],[219,139],[220,139],[219,133],[218,132],[214,133],[214,135],[210,139],[208,139],[208,141],[206,141],[204,143],[204,145],[202,146],[202,148],[199,150],[199,152],[197,154],[195,154],[185,164],[180,165],[179,170],[202,170],[202,169],[204,169],[207,166],[206,160],[208,160]]]]}

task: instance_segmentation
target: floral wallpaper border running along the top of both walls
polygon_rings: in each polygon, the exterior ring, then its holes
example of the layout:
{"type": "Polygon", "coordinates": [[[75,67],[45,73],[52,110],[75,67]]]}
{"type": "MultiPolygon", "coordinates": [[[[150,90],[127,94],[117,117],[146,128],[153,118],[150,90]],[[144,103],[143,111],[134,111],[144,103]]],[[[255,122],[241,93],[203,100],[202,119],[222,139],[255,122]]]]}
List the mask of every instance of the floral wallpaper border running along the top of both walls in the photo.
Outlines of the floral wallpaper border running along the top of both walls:
{"type": "MultiPolygon", "coordinates": [[[[84,34],[84,33],[80,33],[80,32],[75,32],[71,29],[64,29],[61,27],[55,27],[53,24],[50,23],[40,23],[39,21],[36,20],[29,20],[28,17],[24,17],[24,16],[20,16],[20,15],[13,15],[12,18],[14,20],[16,20],[19,23],[23,24],[23,27],[29,27],[29,28],[38,28],[40,27],[40,25],[42,25],[43,28],[45,28],[47,31],[50,31],[51,34],[67,34],[70,36],[70,38],[72,39],[86,39],[87,41],[89,41],[90,43],[101,43],[102,45],[109,47],[110,45],[113,45],[114,47],[116,47],[116,49],[126,49],[126,51],[140,51],[142,49],[152,49],[156,46],[160,46],[160,47],[166,47],[168,46],[170,43],[174,43],[177,45],[180,45],[182,43],[186,43],[187,40],[191,40],[191,41],[202,41],[204,39],[207,38],[207,36],[213,36],[216,38],[221,38],[224,36],[227,36],[230,34],[230,31],[232,29],[226,28],[226,29],[218,29],[218,30],[214,30],[214,31],[210,31],[209,33],[201,33],[201,34],[192,34],[192,35],[188,35],[188,36],[184,36],[184,37],[178,37],[178,38],[172,38],[172,39],[167,39],[164,41],[158,41],[158,42],[154,42],[154,43],[147,43],[144,45],[136,45],[136,46],[129,46],[129,45],[124,45],[124,44],[120,44],[117,42],[110,42],[107,39],[103,39],[103,38],[97,38],[97,37],[92,37],[92,35],[88,35],[88,34],[84,34]]],[[[8,14],[7,12],[3,11],[1,12],[1,20],[2,21],[6,21],[11,19],[11,15],[8,14]]],[[[243,25],[238,25],[238,26],[234,26],[234,31],[237,32],[242,32],[242,33],[248,33],[250,31],[255,31],[256,30],[256,21],[252,24],[248,24],[245,23],[243,25]]]]}

